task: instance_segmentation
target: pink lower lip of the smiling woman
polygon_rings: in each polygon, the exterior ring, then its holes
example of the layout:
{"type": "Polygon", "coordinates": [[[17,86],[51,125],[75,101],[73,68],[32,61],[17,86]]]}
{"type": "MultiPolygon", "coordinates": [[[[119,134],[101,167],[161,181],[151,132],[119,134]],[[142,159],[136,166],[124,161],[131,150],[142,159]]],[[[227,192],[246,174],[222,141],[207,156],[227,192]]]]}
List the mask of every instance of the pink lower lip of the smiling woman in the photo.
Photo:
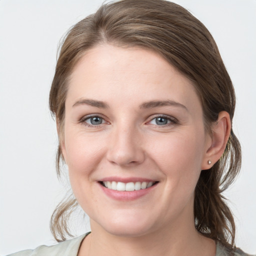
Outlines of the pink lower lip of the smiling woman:
{"type": "Polygon", "coordinates": [[[99,186],[101,187],[101,189],[107,196],[109,196],[113,199],[122,200],[122,201],[138,199],[138,198],[146,195],[147,193],[149,193],[152,189],[154,189],[154,187],[156,185],[157,185],[157,183],[148,188],[133,190],[133,191],[118,191],[118,190],[106,188],[99,183],[99,186]]]}

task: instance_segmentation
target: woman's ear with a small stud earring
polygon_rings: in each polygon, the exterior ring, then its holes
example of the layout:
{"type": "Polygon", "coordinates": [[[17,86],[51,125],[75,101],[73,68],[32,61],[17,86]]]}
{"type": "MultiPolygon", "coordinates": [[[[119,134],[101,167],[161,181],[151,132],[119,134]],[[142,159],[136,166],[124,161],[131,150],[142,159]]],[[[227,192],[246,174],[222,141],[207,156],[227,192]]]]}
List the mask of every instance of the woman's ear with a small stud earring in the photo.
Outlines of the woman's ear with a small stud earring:
{"type": "Polygon", "coordinates": [[[226,143],[230,134],[231,123],[229,114],[221,111],[218,114],[218,120],[212,125],[212,134],[209,135],[209,143],[206,145],[201,169],[209,169],[221,157],[225,150],[226,143]]]}

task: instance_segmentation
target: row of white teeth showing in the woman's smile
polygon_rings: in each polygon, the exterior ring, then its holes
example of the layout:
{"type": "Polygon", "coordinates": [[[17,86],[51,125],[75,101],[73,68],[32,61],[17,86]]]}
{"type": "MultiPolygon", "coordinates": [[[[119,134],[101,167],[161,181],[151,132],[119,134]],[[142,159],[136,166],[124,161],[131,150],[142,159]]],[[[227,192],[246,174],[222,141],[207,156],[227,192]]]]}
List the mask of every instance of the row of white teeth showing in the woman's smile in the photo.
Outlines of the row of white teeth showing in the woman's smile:
{"type": "Polygon", "coordinates": [[[155,185],[158,181],[136,181],[136,182],[119,182],[119,181],[101,181],[100,184],[108,189],[117,191],[134,191],[146,189],[155,185]]]}

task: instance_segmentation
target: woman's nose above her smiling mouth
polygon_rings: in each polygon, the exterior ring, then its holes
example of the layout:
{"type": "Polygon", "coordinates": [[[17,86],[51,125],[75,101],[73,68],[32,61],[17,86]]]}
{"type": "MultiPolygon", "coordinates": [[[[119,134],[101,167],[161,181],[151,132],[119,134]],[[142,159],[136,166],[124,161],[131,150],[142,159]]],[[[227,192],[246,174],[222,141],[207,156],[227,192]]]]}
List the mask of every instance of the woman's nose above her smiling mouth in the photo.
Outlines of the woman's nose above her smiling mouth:
{"type": "Polygon", "coordinates": [[[131,166],[144,161],[142,134],[135,127],[115,127],[109,140],[106,157],[111,163],[131,166]]]}

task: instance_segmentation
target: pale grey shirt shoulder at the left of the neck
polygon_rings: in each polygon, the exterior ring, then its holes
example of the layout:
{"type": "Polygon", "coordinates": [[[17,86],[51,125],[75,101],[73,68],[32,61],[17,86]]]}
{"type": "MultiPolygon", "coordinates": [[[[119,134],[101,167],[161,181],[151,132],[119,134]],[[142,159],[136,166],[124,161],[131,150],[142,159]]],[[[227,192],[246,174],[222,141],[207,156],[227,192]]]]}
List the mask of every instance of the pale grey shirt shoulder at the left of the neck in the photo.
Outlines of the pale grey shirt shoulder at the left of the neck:
{"type": "Polygon", "coordinates": [[[9,254],[7,256],[76,256],[80,244],[87,234],[88,233],[70,240],[59,242],[55,245],[41,245],[33,250],[22,250],[13,254],[9,254]]]}

